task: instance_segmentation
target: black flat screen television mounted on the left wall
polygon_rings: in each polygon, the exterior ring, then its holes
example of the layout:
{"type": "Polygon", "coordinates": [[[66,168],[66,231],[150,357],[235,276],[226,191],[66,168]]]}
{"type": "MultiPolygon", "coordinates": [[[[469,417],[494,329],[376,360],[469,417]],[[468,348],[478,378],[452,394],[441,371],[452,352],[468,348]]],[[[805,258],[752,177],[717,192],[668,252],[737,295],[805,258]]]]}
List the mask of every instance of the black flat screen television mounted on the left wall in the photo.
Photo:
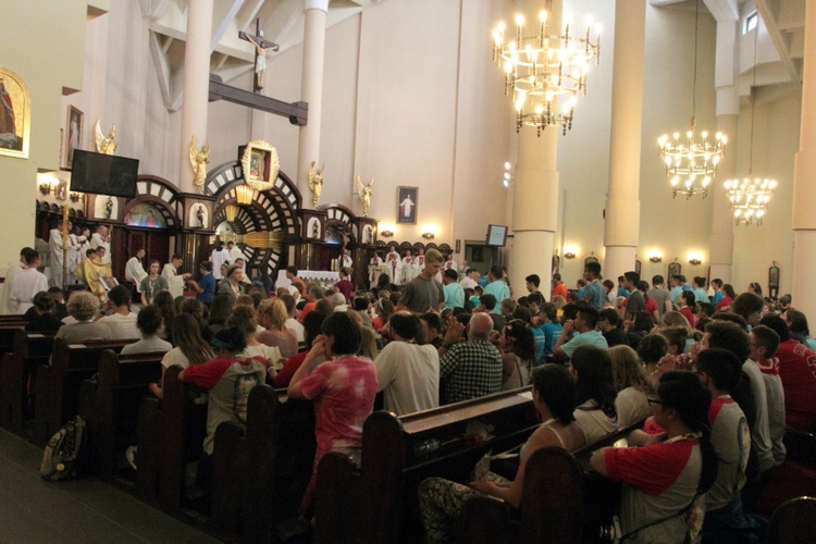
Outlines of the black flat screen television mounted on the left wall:
{"type": "Polygon", "coordinates": [[[71,190],[133,198],[138,173],[137,159],[74,149],[71,190]]]}

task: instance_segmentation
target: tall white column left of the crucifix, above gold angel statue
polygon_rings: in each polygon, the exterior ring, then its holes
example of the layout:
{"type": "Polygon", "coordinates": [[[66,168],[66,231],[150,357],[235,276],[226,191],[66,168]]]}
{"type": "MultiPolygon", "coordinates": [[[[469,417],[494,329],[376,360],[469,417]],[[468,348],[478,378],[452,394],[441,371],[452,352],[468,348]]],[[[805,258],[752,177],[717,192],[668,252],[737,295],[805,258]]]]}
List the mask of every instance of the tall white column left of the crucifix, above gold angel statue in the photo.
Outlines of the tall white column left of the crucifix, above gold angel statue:
{"type": "Polygon", "coordinates": [[[187,4],[187,42],[184,51],[184,103],[182,106],[182,141],[178,157],[178,188],[198,193],[193,183],[189,144],[196,137],[200,149],[207,141],[207,99],[210,92],[210,42],[212,41],[213,0],[187,4]]]}

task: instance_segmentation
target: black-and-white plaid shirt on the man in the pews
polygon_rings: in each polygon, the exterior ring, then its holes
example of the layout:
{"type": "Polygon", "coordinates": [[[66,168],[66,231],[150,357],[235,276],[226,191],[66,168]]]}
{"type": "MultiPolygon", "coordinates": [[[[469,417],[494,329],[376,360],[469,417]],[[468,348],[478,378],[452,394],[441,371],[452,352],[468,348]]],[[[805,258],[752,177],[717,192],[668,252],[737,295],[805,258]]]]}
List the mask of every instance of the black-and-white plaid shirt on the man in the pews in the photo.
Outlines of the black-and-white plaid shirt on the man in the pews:
{"type": "Polygon", "coordinates": [[[440,404],[477,398],[502,388],[502,355],[486,339],[454,344],[440,359],[440,404]]]}

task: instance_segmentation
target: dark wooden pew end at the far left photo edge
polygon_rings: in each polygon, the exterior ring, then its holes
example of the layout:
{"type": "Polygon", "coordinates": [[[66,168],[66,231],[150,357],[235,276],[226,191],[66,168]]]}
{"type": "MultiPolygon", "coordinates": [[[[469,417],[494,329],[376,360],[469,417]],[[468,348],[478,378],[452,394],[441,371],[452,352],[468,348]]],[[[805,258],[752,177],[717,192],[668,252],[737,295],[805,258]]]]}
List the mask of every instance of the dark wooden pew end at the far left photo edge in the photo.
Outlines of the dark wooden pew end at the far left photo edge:
{"type": "Polygon", "coordinates": [[[0,362],[0,426],[3,429],[23,432],[28,376],[36,375],[37,368],[48,363],[52,347],[53,333],[29,333],[24,329],[15,332],[14,351],[4,354],[0,362]]]}

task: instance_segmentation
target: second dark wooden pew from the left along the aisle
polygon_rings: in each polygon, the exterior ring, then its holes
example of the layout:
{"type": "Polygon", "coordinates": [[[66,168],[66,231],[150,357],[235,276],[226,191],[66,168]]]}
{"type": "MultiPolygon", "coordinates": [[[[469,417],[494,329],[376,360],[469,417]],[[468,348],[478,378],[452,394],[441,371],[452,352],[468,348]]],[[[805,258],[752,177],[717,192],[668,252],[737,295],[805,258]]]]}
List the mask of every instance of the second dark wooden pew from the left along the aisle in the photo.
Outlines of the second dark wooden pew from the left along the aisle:
{"type": "Polygon", "coordinates": [[[112,349],[119,353],[133,342],[119,339],[69,344],[61,338],[54,341],[51,364],[42,364],[37,370],[34,435],[30,438],[35,446],[45,447],[60,426],[78,413],[82,383],[97,373],[102,351],[112,349]]]}

